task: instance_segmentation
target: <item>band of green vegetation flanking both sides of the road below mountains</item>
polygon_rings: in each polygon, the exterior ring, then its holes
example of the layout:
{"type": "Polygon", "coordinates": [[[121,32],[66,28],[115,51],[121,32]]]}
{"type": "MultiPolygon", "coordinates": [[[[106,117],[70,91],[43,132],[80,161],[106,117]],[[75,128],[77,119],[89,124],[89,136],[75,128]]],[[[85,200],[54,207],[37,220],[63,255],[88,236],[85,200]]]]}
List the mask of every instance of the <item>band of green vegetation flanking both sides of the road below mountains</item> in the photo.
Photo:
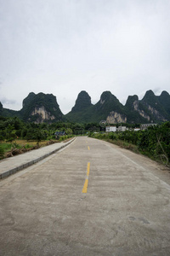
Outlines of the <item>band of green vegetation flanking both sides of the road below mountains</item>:
{"type": "Polygon", "coordinates": [[[126,124],[126,126],[128,131],[105,133],[105,125],[100,123],[56,122],[49,125],[47,123],[26,123],[18,117],[0,117],[0,158],[11,148],[23,148],[22,140],[25,140],[24,148],[35,147],[35,143],[38,146],[41,142],[56,141],[55,132],[58,131],[61,134],[58,141],[82,135],[105,139],[169,165],[170,122],[150,126],[145,131],[133,131],[134,127],[139,127],[138,124],[126,124]]]}

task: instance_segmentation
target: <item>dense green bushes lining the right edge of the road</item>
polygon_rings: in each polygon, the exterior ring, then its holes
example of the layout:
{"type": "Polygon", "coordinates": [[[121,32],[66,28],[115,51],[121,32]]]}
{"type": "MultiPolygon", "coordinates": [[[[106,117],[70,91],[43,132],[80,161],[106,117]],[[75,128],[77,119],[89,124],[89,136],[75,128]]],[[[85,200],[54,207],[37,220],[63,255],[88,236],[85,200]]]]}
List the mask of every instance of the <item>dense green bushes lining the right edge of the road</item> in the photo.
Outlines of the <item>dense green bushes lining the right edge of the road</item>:
{"type": "Polygon", "coordinates": [[[170,163],[170,122],[150,126],[144,131],[123,131],[92,133],[90,137],[116,143],[123,148],[149,156],[169,166],[170,163]]]}

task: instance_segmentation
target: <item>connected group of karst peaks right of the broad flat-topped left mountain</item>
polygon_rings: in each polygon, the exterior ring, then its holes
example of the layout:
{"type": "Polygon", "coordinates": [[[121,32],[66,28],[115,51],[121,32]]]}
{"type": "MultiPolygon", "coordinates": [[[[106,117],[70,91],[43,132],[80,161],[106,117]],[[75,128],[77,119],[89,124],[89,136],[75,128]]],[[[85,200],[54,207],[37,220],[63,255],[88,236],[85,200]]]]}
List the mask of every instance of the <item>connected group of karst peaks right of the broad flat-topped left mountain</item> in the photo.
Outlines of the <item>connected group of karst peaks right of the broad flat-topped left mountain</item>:
{"type": "Polygon", "coordinates": [[[148,90],[142,100],[139,97],[128,96],[125,106],[112,95],[110,91],[105,91],[100,96],[99,102],[91,104],[88,93],[82,91],[75,106],[70,113],[65,115],[65,119],[72,122],[99,122],[100,120],[117,119],[116,123],[127,121],[127,123],[160,123],[170,120],[170,96],[163,91],[161,96],[155,96],[153,91],[148,90]]]}

